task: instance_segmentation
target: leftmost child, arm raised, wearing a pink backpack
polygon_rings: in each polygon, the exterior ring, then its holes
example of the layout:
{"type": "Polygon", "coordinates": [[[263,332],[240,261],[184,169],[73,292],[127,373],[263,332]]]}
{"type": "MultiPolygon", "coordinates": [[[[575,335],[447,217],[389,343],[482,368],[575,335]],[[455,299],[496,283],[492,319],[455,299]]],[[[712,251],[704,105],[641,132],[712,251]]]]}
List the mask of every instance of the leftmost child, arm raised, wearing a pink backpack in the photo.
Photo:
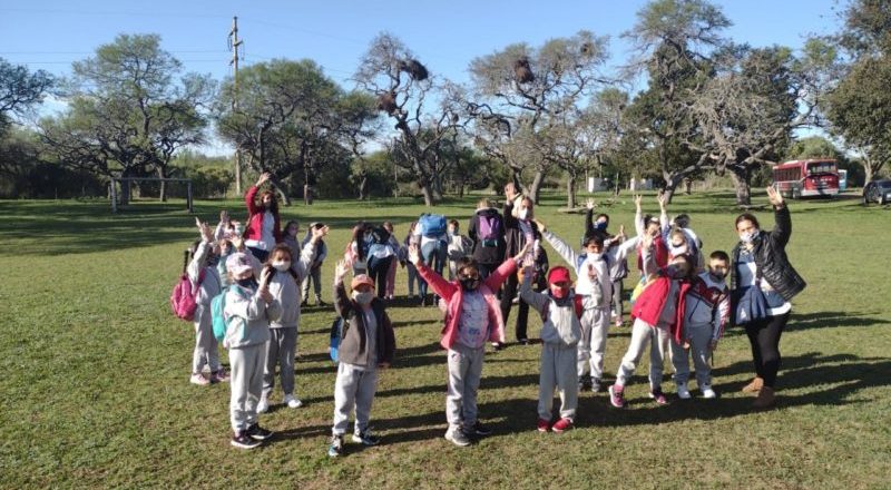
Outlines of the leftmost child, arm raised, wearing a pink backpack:
{"type": "MultiPolygon", "coordinates": [[[[210,316],[210,301],[221,293],[223,285],[216,268],[216,261],[219,258],[214,253],[214,237],[206,223],[195,218],[202,239],[195,242],[189,248],[190,261],[185,273],[192,283],[195,295],[195,350],[192,354],[192,376],[189,382],[205,386],[210,383],[228,381],[229,376],[219,365],[219,351],[217,341],[214,337],[214,327],[210,316]],[[204,376],[202,371],[207,365],[210,370],[210,379],[204,376]]],[[[187,256],[188,257],[188,256],[187,256]]]]}

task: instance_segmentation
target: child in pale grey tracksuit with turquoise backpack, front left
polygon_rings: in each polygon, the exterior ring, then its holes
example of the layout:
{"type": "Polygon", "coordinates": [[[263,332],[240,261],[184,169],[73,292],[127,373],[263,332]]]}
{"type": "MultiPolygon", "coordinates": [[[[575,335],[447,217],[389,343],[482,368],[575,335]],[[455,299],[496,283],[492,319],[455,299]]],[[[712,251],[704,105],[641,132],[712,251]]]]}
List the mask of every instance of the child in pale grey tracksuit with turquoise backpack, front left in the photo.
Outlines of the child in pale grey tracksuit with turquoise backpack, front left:
{"type": "Polygon", "coordinates": [[[270,293],[270,270],[263,270],[257,283],[247,254],[229,255],[226,270],[233,283],[221,297],[226,327],[223,346],[229,350],[232,369],[229,420],[234,434],[229,442],[236,448],[253,449],[272,437],[257,423],[257,404],[263,395],[270,322],[281,318],[282,305],[270,293]]]}

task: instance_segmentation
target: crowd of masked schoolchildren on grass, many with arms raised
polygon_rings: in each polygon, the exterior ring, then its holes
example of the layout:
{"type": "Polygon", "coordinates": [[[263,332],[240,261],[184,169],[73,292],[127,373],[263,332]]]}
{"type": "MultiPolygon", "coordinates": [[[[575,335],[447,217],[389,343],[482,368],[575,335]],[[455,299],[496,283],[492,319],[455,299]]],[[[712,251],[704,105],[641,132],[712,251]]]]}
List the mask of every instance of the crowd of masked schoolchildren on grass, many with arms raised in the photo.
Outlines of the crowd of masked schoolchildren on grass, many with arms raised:
{"type": "MultiPolygon", "coordinates": [[[[589,203],[582,246],[574,251],[533,217],[531,200],[520,198],[513,204],[518,196],[510,194],[509,207],[516,205],[518,212],[506,207],[505,217],[510,212],[511,218],[493,222],[493,207],[481,202],[471,219],[472,238],[459,234],[457,220],[443,225],[425,216],[410,226],[402,243],[393,237],[389,222],[381,226],[361,223],[353,229],[353,239],[334,274],[334,306],[343,318],[343,329],[329,455],[343,454],[343,438],[352,412],[355,412],[353,441],[364,445],[379,442],[369,430],[369,419],[378,370],[388,367],[395,352],[385,300],[393,297],[391,283],[396,264],[409,268],[410,281],[418,281],[422,302],[427,301],[429,287],[444,313],[440,344],[447,351],[446,439],[457,445],[469,445],[470,438],[490,433],[477,416],[477,392],[486,344],[499,347],[506,342],[509,306],[506,311],[505,303],[506,298],[511,303],[511,287],[518,291],[520,304],[531,306],[544,321],[537,430],[562,432],[574,427],[579,392],[586,389],[598,392],[603,388],[607,333],[611,325],[621,324],[620,284],[627,275],[627,257],[635,251],[640,282],[633,295],[631,339],[616,381],[608,389],[610,403],[617,408],[626,404],[625,386],[647,346],[649,395],[656,403],[667,403],[662,390],[666,355],[675,367],[678,398],[691,398],[687,386],[691,354],[703,398],[716,396],[711,385],[708,357],[730,312],[724,281],[730,268],[726,253],[712,253],[705,264],[702,242],[689,229],[688,217],[681,215],[669,222],[662,198],[659,217],[643,215],[639,197],[635,216],[637,236],[626,237],[624,228],[610,235],[609,217],[599,215],[594,219],[594,205],[589,203]],[[541,266],[545,254],[541,238],[569,264],[577,277],[575,284],[570,268],[541,266]],[[495,261],[476,258],[480,252],[482,256],[492,255],[492,249],[507,254],[497,266],[495,261]],[[448,280],[443,276],[447,266],[448,280]],[[353,277],[347,292],[344,281],[350,271],[353,277]],[[618,315],[616,295],[619,295],[618,315]],[[561,401],[556,421],[555,389],[561,401]]],[[[277,215],[254,217],[270,214],[271,207],[267,203],[251,209],[248,220],[261,228],[277,226],[277,215]]],[[[198,223],[198,227],[200,239],[190,248],[186,267],[197,292],[198,306],[190,381],[231,382],[232,444],[254,448],[272,435],[260,427],[257,414],[268,410],[276,367],[283,403],[290,408],[302,405],[294,386],[297,325],[310,282],[315,284],[316,304],[322,304],[320,271],[326,255],[323,238],[329,227],[311,225],[300,243],[296,222],[286,223],[281,242],[275,244],[263,243],[268,239],[268,229],[255,232],[253,236],[260,239],[252,244],[260,245],[258,249],[247,245],[243,237],[248,234],[225,213],[216,231],[212,232],[204,223],[198,223]],[[265,259],[261,261],[258,256],[264,253],[265,259]],[[215,297],[221,297],[224,305],[221,307],[225,324],[223,345],[228,350],[231,373],[219,364],[212,325],[215,297]],[[209,379],[202,372],[205,365],[209,367],[209,379]]],[[[410,282],[410,294],[411,286],[410,282]]],[[[525,330],[518,326],[520,343],[528,341],[525,330]]]]}

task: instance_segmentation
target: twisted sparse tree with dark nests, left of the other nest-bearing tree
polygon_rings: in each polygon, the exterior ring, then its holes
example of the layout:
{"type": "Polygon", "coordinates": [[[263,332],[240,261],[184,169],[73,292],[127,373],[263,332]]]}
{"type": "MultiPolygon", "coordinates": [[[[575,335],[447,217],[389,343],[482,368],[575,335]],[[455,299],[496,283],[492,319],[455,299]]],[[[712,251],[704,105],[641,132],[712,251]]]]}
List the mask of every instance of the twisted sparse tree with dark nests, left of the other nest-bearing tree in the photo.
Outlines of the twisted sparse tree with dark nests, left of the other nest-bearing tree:
{"type": "Polygon", "coordinates": [[[359,88],[378,100],[378,108],[394,121],[399,137],[393,159],[409,170],[433,206],[441,196],[440,177],[448,165],[439,151],[466,125],[461,89],[433,77],[398,38],[381,33],[371,41],[355,74],[359,88]]]}

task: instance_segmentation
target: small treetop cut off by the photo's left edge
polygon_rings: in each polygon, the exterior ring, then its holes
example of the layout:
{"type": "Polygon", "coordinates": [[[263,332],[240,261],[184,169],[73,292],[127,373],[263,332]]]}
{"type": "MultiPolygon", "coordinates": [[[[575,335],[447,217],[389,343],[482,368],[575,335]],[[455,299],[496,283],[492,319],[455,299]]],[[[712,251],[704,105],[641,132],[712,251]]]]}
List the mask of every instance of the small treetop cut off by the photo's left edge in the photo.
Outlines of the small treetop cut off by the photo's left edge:
{"type": "Polygon", "coordinates": [[[43,70],[30,72],[25,66],[0,58],[0,136],[13,115],[21,116],[42,102],[55,82],[55,78],[43,70]]]}

